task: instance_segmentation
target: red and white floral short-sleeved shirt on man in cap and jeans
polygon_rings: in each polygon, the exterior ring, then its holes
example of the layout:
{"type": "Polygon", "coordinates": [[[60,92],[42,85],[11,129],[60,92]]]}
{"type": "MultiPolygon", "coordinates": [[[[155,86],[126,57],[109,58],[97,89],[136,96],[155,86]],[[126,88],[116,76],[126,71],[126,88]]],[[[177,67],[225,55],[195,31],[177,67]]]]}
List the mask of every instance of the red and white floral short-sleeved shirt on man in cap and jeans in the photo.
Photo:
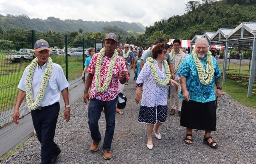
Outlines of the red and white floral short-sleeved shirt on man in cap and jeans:
{"type": "MultiPolygon", "coordinates": [[[[127,68],[125,66],[124,60],[122,60],[122,58],[120,56],[117,56],[116,63],[114,65],[114,69],[113,69],[112,79],[110,81],[108,89],[103,92],[98,92],[95,89],[95,68],[96,68],[98,56],[99,56],[98,53],[93,55],[93,58],[91,59],[90,65],[88,67],[88,72],[91,74],[94,74],[93,82],[91,85],[90,98],[91,99],[96,98],[101,101],[111,101],[114,98],[116,98],[119,93],[118,81],[121,80],[121,78],[122,78],[120,75],[120,72],[122,70],[127,71],[127,68]]],[[[101,62],[101,86],[103,86],[103,82],[105,81],[105,79],[107,77],[108,68],[109,68],[111,59],[112,59],[112,57],[108,58],[104,54],[102,62],[101,62]]],[[[127,79],[129,78],[128,71],[126,73],[126,77],[127,77],[127,79]]]]}

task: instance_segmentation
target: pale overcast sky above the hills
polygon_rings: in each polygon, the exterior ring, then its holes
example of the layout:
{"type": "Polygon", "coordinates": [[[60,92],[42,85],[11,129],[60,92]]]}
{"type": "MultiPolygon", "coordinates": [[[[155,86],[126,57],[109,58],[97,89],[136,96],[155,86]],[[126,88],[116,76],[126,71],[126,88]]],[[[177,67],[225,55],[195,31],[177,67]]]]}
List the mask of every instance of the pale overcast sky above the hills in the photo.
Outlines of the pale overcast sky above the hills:
{"type": "Polygon", "coordinates": [[[183,15],[189,0],[0,0],[0,14],[46,19],[140,22],[153,25],[183,15]]]}

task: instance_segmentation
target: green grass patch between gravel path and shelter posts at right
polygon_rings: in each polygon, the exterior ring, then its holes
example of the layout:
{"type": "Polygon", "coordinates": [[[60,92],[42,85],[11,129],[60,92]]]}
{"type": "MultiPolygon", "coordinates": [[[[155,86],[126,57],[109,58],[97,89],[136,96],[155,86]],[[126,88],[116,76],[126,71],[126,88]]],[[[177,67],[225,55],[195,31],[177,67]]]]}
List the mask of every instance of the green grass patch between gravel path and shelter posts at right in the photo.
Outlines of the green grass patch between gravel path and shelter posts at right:
{"type": "Polygon", "coordinates": [[[256,109],[256,94],[252,93],[251,97],[247,97],[248,85],[226,79],[225,84],[222,85],[222,90],[241,104],[256,109]]]}

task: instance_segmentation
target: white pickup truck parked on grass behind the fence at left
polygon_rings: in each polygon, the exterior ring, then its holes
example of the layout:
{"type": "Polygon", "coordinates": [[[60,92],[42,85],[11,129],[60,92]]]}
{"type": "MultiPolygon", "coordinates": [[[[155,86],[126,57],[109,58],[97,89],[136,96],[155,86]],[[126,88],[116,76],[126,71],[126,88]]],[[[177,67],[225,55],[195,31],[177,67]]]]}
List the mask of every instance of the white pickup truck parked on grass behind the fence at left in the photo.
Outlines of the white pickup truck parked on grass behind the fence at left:
{"type": "Polygon", "coordinates": [[[20,48],[17,54],[6,55],[5,60],[12,62],[24,62],[27,59],[33,59],[33,50],[29,48],[20,48]]]}

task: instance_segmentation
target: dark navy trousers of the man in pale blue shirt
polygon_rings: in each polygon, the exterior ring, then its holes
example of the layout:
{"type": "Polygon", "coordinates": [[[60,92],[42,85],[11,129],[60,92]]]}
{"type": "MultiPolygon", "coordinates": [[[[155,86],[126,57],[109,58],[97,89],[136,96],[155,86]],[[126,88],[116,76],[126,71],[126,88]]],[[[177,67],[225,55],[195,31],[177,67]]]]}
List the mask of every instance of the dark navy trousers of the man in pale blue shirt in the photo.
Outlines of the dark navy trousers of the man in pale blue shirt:
{"type": "Polygon", "coordinates": [[[52,155],[60,151],[60,148],[53,141],[57,119],[60,112],[60,104],[56,102],[42,110],[31,110],[31,116],[37,138],[41,142],[41,164],[49,164],[52,155]]]}

